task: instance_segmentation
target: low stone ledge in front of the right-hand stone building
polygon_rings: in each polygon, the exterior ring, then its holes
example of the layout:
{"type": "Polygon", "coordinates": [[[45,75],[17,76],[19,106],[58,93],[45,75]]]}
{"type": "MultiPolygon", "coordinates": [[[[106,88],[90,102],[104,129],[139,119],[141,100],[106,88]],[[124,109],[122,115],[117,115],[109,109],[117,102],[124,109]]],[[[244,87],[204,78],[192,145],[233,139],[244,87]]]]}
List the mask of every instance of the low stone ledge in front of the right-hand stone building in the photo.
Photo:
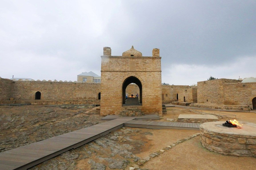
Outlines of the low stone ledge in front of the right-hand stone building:
{"type": "Polygon", "coordinates": [[[239,106],[239,105],[215,105],[215,104],[191,103],[189,106],[196,107],[196,108],[237,110],[237,111],[245,111],[245,112],[251,110],[249,106],[239,106]]]}

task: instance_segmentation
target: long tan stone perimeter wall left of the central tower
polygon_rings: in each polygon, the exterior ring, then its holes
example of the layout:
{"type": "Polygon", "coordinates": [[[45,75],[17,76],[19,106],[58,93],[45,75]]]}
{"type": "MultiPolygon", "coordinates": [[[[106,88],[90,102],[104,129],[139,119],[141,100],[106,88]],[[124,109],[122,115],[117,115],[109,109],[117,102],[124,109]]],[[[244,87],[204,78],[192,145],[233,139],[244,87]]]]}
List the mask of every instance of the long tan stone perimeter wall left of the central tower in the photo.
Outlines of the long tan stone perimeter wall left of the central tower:
{"type": "MultiPolygon", "coordinates": [[[[0,85],[0,99],[2,101],[10,100],[11,97],[15,101],[34,101],[35,93],[39,91],[41,92],[41,101],[52,100],[48,103],[58,103],[57,101],[60,100],[70,100],[68,103],[72,103],[71,100],[98,100],[100,93],[99,83],[12,81],[0,78],[0,85]]],[[[83,102],[77,101],[75,103],[83,102]]],[[[91,104],[92,102],[85,103],[91,104]]]]}

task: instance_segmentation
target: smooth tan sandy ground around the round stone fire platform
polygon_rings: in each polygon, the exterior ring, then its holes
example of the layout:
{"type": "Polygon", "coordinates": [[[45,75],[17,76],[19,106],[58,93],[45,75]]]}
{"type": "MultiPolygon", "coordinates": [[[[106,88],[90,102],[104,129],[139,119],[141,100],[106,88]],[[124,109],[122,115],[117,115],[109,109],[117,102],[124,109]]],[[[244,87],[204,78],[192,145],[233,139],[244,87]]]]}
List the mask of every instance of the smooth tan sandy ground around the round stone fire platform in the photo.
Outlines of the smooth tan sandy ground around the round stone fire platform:
{"type": "MultiPolygon", "coordinates": [[[[236,115],[238,121],[256,123],[256,113],[249,112],[219,112],[219,111],[207,111],[198,110],[200,112],[211,113],[216,115],[233,114],[236,115]]],[[[193,111],[179,108],[167,108],[167,114],[163,115],[163,120],[167,118],[176,119],[179,114],[197,114],[193,111]]],[[[230,116],[234,118],[233,116],[230,116]]],[[[228,120],[228,119],[221,119],[228,120]]],[[[154,149],[161,148],[162,144],[168,145],[176,138],[184,138],[189,134],[196,133],[195,130],[156,130],[153,132],[153,136],[148,136],[149,139],[154,141],[152,145],[154,149]],[[159,144],[161,146],[159,146],[159,144]],[[156,147],[158,146],[158,147],[156,147]]],[[[143,156],[147,154],[142,152],[138,155],[143,156]]],[[[162,153],[158,157],[154,157],[152,161],[146,162],[142,168],[148,168],[150,170],[216,170],[216,169],[230,169],[228,166],[232,166],[235,170],[251,169],[256,170],[256,158],[252,157],[237,157],[221,155],[215,152],[211,152],[200,144],[200,136],[184,141],[170,150],[162,153]]]]}

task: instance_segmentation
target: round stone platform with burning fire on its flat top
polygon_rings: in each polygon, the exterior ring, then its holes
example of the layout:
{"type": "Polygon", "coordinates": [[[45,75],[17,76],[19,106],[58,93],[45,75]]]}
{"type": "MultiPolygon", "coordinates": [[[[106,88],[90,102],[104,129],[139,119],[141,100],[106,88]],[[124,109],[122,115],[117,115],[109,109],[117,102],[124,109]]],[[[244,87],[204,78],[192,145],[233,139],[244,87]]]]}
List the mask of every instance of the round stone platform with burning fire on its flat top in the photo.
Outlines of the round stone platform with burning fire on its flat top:
{"type": "Polygon", "coordinates": [[[228,128],[221,122],[200,125],[201,143],[206,149],[233,156],[256,157],[256,124],[239,122],[242,127],[228,128]]]}

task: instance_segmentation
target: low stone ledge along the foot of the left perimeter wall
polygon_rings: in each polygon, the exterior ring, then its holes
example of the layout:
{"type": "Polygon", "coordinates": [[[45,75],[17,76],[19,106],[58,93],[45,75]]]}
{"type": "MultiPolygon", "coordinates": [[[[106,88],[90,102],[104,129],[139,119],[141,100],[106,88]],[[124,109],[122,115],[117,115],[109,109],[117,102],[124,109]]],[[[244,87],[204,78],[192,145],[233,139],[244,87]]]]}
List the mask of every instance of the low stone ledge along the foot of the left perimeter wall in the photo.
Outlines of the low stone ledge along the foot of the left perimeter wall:
{"type": "Polygon", "coordinates": [[[8,100],[0,101],[0,104],[21,104],[31,105],[100,105],[100,100],[8,100]]]}

